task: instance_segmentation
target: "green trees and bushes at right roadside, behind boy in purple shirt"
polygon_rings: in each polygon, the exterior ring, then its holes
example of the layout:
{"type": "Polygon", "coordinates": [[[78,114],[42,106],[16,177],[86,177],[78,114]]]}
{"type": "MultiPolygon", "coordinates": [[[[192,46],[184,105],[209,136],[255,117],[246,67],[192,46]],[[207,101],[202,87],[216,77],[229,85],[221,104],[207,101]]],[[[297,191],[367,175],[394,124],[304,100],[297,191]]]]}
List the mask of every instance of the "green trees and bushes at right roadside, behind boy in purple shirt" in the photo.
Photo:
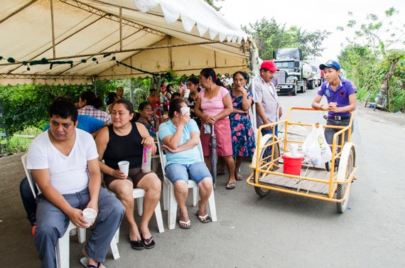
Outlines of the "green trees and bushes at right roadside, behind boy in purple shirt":
{"type": "Polygon", "coordinates": [[[357,26],[357,21],[350,20],[347,27],[355,30],[355,38],[347,38],[349,45],[341,51],[339,60],[348,78],[357,85],[359,100],[365,100],[371,92],[369,100],[374,102],[385,83],[388,85],[387,109],[405,112],[405,50],[389,50],[393,44],[404,43],[399,40],[404,35],[404,29],[395,28],[389,21],[398,14],[396,9],[390,8],[385,14],[383,20],[375,14],[368,14],[367,23],[360,26],[357,26]]]}

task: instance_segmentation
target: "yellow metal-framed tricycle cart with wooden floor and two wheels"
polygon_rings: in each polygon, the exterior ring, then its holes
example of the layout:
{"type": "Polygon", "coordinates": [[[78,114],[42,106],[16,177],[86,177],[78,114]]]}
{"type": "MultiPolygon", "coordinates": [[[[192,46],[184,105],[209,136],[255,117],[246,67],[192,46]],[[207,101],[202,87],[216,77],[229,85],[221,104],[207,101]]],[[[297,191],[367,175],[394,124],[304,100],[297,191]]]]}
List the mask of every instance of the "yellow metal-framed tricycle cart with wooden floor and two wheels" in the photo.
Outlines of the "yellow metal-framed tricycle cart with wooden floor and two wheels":
{"type": "Polygon", "coordinates": [[[291,144],[302,146],[305,137],[303,139],[293,137],[288,133],[288,128],[293,125],[302,127],[312,127],[313,125],[291,121],[291,113],[294,111],[298,111],[300,114],[323,112],[312,108],[293,107],[289,110],[285,120],[261,126],[257,135],[257,149],[250,165],[253,172],[247,178],[247,184],[253,186],[256,193],[262,197],[269,194],[271,190],[301,195],[334,202],[337,204],[338,212],[344,213],[349,202],[350,186],[352,180],[355,179],[357,169],[355,144],[350,142],[353,116],[347,127],[323,125],[323,128],[340,129],[333,136],[333,144],[329,144],[332,149],[332,161],[326,163],[325,168],[315,168],[311,161],[304,160],[300,175],[291,175],[284,173],[281,149],[284,149],[284,153],[286,153],[291,151],[291,144]],[[280,135],[278,139],[274,134],[261,136],[262,128],[274,127],[276,124],[279,125],[279,129],[284,124],[284,137],[280,135]],[[340,142],[338,142],[339,136],[341,137],[340,142]],[[339,165],[335,168],[337,159],[340,159],[339,165]]]}

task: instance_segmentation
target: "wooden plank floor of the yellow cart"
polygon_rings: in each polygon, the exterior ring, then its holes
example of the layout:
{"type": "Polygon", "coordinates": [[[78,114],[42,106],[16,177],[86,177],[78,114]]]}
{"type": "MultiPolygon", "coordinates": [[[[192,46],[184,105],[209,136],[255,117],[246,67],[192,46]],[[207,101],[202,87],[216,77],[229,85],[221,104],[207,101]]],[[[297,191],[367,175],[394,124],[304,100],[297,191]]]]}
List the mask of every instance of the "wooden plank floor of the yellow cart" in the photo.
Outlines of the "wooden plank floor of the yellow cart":
{"type": "MultiPolygon", "coordinates": [[[[274,172],[283,173],[283,166],[274,172]]],[[[323,169],[310,169],[306,171],[306,167],[301,169],[301,176],[306,172],[306,177],[317,178],[320,180],[329,181],[330,172],[323,169]]],[[[284,188],[286,190],[300,191],[301,193],[312,193],[328,197],[329,184],[318,183],[315,181],[300,180],[297,178],[289,178],[283,175],[269,174],[264,178],[259,179],[260,184],[273,186],[276,188],[284,188]]]]}

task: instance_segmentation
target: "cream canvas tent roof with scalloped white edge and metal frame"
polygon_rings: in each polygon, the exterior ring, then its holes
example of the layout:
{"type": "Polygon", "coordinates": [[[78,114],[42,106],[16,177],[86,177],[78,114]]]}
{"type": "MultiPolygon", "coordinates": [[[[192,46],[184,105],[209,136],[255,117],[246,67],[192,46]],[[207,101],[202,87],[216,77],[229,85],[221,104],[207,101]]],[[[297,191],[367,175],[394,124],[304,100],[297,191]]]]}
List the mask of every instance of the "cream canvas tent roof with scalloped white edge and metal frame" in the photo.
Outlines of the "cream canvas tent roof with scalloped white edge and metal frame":
{"type": "Polygon", "coordinates": [[[202,0],[0,1],[1,85],[249,70],[254,44],[202,0]]]}

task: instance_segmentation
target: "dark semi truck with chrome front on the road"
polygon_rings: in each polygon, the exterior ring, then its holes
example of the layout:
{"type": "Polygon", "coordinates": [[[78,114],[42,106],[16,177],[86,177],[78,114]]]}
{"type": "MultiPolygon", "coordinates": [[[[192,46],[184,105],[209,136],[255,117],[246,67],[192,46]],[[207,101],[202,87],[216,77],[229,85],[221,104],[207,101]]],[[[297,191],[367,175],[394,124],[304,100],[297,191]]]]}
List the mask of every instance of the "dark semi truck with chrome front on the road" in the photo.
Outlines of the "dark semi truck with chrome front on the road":
{"type": "Polygon", "coordinates": [[[297,95],[306,92],[308,85],[315,86],[312,68],[303,62],[301,48],[279,48],[273,51],[274,63],[280,70],[274,74],[277,79],[277,93],[297,95]]]}

